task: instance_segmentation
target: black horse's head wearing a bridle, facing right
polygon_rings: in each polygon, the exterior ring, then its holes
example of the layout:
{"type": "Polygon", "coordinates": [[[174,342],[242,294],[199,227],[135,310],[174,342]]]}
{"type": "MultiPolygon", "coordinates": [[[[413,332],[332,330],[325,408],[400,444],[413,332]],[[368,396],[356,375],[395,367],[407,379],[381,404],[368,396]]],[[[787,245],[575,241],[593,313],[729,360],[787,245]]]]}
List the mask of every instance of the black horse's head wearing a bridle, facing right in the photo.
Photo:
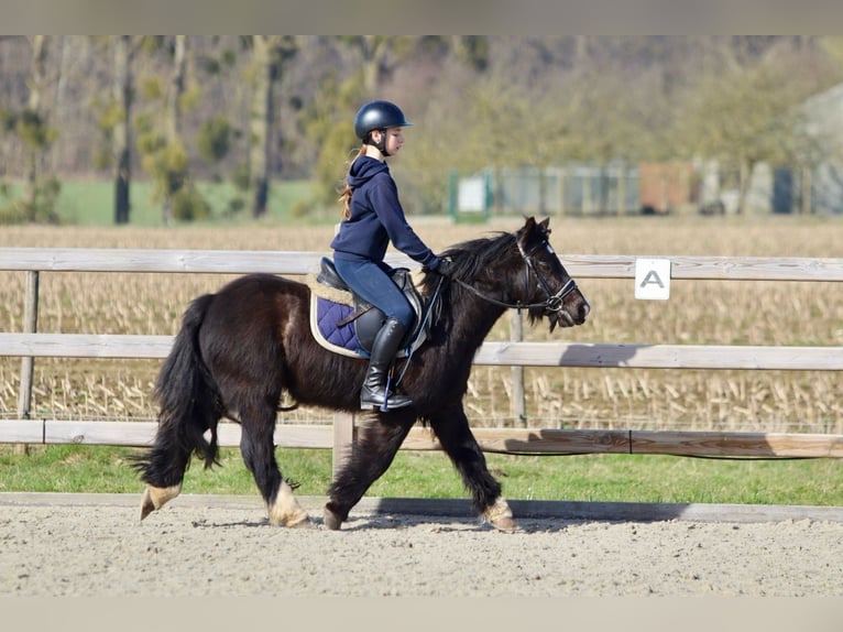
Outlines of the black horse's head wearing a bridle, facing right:
{"type": "Polygon", "coordinates": [[[537,222],[529,217],[515,240],[525,265],[524,296],[519,301],[528,306],[532,322],[546,316],[552,331],[557,325],[582,325],[591,305],[550,247],[548,224],[548,219],[537,222]]]}

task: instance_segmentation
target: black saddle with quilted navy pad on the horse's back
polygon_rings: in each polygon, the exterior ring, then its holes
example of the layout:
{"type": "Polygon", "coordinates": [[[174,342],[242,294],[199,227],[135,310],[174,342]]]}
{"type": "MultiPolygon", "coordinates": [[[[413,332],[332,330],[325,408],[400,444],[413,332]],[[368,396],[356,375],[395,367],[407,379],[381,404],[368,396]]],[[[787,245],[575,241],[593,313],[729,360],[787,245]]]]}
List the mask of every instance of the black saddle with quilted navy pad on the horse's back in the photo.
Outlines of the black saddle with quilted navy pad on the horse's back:
{"type": "MultiPolygon", "coordinates": [[[[425,301],[413,284],[410,271],[396,268],[391,277],[416,315],[415,325],[402,340],[397,355],[401,358],[415,351],[427,339],[429,320],[424,318],[425,301]]],[[[324,347],[340,353],[344,351],[346,355],[368,358],[375,336],[386,322],[384,313],[358,296],[339,275],[333,261],[327,257],[321,259],[316,282],[330,288],[329,293],[322,293],[311,287],[310,322],[316,339],[324,347]]]]}

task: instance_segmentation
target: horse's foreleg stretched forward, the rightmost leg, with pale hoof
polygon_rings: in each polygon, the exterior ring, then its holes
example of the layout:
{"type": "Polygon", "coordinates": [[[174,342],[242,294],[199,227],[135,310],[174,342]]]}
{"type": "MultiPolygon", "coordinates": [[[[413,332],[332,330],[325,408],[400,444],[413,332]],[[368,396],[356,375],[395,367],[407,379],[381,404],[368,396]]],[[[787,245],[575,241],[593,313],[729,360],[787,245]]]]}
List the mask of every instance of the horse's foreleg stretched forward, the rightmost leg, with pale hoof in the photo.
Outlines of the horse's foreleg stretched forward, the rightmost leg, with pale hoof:
{"type": "Polygon", "coordinates": [[[501,494],[501,483],[486,467],[485,457],[471,433],[462,405],[451,406],[429,418],[442,449],[471,493],[474,512],[495,529],[517,531],[510,505],[501,494]]]}

